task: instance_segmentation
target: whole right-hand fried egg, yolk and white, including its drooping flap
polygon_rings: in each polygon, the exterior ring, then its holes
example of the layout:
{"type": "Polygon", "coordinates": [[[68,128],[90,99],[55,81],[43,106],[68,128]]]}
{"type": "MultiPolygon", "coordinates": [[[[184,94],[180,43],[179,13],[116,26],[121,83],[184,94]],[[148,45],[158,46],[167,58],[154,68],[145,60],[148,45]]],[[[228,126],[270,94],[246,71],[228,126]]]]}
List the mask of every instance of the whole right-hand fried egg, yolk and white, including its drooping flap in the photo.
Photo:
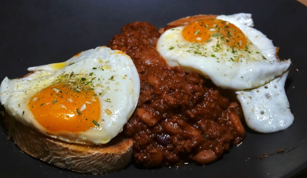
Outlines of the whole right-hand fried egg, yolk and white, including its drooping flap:
{"type": "Polygon", "coordinates": [[[276,132],[289,127],[294,119],[281,89],[284,80],[279,78],[286,76],[283,73],[291,61],[279,60],[272,41],[252,26],[251,14],[244,13],[199,20],[166,30],[157,50],[170,66],[195,71],[221,88],[236,90],[247,125],[258,132],[276,132]],[[262,91],[263,85],[275,85],[275,80],[278,88],[262,91]],[[278,97],[263,97],[266,92],[278,93],[278,97]],[[249,97],[253,99],[247,101],[249,97]],[[272,98],[283,104],[275,105],[272,98]]]}

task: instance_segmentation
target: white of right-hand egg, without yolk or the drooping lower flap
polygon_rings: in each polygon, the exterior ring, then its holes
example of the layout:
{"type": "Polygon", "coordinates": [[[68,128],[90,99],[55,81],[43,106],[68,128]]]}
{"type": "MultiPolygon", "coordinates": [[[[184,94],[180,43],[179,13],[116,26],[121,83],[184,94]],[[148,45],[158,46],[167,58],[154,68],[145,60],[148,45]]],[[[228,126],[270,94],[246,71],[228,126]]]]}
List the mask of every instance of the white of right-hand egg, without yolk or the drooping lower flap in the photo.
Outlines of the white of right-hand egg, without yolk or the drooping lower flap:
{"type": "Polygon", "coordinates": [[[249,89],[261,86],[286,71],[291,61],[280,61],[275,56],[276,47],[260,31],[245,22],[244,14],[218,16],[237,27],[250,40],[248,50],[232,53],[231,47],[223,45],[218,38],[210,42],[188,42],[182,37],[185,26],[166,30],[157,42],[157,50],[170,66],[179,66],[186,72],[195,71],[210,78],[224,89],[249,89]],[[217,47],[219,45],[219,47],[217,47]],[[233,59],[238,58],[238,61],[233,59]]]}

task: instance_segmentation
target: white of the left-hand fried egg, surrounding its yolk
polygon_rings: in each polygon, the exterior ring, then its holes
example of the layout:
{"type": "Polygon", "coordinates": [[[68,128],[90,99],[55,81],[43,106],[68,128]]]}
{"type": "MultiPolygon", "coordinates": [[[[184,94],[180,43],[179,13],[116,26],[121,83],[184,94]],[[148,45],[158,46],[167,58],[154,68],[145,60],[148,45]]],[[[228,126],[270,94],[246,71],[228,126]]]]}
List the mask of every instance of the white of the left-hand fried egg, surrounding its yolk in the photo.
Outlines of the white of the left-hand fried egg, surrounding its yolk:
{"type": "Polygon", "coordinates": [[[84,51],[62,63],[30,67],[28,70],[33,73],[27,77],[12,80],[5,77],[0,86],[1,104],[17,121],[60,140],[107,143],[122,131],[138,102],[140,80],[133,61],[123,52],[105,46],[84,51]],[[72,72],[75,78],[65,77],[72,72]],[[51,132],[42,127],[29,109],[30,98],[50,85],[80,80],[81,77],[88,80],[96,77],[91,87],[100,101],[99,126],[85,132],[51,132]]]}

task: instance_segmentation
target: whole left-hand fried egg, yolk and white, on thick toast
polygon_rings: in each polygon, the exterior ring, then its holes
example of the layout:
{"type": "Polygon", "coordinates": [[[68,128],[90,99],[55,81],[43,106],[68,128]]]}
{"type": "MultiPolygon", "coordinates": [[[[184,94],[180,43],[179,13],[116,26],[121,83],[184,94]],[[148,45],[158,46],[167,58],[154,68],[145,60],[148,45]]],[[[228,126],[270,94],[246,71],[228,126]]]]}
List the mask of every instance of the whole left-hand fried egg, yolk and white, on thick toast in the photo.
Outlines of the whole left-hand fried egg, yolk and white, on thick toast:
{"type": "Polygon", "coordinates": [[[136,108],[140,80],[131,58],[105,46],[5,79],[0,101],[25,126],[72,143],[105,144],[136,108]]]}

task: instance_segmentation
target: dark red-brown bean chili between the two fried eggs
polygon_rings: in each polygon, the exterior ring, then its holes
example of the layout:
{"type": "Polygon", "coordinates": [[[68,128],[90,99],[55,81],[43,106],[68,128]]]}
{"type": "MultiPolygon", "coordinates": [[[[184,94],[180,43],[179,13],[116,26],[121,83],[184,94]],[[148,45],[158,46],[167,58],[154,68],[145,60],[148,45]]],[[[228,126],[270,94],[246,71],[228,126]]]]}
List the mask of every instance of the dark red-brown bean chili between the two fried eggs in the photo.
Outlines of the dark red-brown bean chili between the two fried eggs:
{"type": "MultiPolygon", "coordinates": [[[[137,108],[124,134],[134,139],[134,158],[145,167],[216,160],[245,136],[235,107],[207,83],[178,67],[169,67],[156,50],[160,34],[147,22],[122,27],[111,49],[128,54],[141,81],[137,108]]],[[[211,85],[212,86],[212,85],[211,85]]]]}

